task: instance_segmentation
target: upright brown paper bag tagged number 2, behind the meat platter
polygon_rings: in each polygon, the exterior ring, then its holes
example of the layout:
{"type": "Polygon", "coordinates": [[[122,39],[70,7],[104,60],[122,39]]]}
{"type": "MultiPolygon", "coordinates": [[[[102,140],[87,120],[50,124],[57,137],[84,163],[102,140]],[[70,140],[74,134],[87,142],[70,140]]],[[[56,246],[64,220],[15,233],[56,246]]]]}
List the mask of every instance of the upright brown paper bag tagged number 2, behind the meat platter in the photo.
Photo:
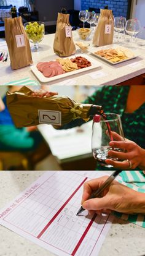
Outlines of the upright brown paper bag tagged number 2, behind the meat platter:
{"type": "Polygon", "coordinates": [[[76,46],[72,40],[71,30],[68,30],[67,32],[66,27],[71,27],[69,23],[69,14],[58,13],[53,50],[54,53],[61,57],[70,56],[76,52],[76,46]]]}

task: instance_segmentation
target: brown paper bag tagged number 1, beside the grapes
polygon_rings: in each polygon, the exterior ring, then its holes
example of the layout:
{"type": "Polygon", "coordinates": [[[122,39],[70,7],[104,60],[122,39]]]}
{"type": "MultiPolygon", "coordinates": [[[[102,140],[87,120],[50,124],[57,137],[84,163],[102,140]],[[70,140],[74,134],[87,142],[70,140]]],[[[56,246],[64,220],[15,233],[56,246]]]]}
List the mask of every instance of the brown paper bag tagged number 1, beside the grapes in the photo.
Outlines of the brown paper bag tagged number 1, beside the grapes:
{"type": "Polygon", "coordinates": [[[31,49],[22,17],[5,19],[5,34],[12,69],[20,69],[32,64],[31,49]]]}

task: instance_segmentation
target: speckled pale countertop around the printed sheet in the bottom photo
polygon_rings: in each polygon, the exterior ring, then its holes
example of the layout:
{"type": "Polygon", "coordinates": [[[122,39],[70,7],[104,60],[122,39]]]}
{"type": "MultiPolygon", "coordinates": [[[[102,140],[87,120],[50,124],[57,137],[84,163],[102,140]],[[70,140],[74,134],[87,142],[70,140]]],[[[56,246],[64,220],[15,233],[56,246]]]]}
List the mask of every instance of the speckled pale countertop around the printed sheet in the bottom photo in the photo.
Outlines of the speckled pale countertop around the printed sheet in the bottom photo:
{"type": "MultiPolygon", "coordinates": [[[[36,181],[44,171],[0,172],[0,208],[6,206],[20,192],[36,181]]],[[[111,174],[111,171],[108,171],[111,174]]],[[[145,229],[127,221],[114,223],[100,250],[100,256],[143,256],[145,229]]],[[[0,256],[52,256],[48,250],[0,226],[0,256]]]]}

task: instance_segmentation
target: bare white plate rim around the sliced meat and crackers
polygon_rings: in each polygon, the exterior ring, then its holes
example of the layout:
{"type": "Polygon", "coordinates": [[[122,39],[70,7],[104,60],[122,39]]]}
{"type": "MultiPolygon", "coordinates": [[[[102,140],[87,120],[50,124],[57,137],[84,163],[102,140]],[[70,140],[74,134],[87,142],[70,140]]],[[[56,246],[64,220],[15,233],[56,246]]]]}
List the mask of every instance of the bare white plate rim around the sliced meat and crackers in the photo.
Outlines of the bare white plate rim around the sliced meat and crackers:
{"type": "MultiPolygon", "coordinates": [[[[98,61],[96,61],[95,59],[93,59],[92,57],[90,57],[87,54],[72,55],[71,57],[69,57],[69,59],[75,58],[77,56],[81,56],[81,57],[86,58],[88,61],[91,62],[92,66],[84,67],[83,69],[77,69],[77,70],[67,72],[67,73],[61,74],[61,75],[55,75],[55,77],[44,77],[42,72],[37,69],[36,65],[31,66],[31,70],[33,71],[34,75],[36,75],[37,79],[39,79],[40,82],[46,83],[46,82],[51,82],[53,80],[63,79],[64,77],[69,77],[70,75],[75,75],[75,74],[77,75],[77,74],[80,74],[80,73],[85,72],[87,70],[96,69],[97,67],[101,67],[101,65],[98,64],[98,61]]],[[[58,59],[58,58],[59,57],[56,56],[56,59],[58,59]]],[[[63,59],[66,59],[66,58],[63,58],[63,59]]],[[[47,61],[50,61],[50,59],[47,59],[47,61]]],[[[53,61],[55,61],[55,59],[53,59],[53,61]]]]}

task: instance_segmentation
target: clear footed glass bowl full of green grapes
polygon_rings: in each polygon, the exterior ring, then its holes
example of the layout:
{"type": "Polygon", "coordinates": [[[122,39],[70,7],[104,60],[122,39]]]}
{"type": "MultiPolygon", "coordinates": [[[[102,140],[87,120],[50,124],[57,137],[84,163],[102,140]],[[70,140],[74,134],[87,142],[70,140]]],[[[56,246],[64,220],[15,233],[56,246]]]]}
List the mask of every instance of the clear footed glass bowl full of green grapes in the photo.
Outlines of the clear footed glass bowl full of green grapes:
{"type": "Polygon", "coordinates": [[[39,43],[44,38],[44,22],[26,22],[24,27],[29,41],[34,43],[35,49],[38,49],[39,43]]]}

